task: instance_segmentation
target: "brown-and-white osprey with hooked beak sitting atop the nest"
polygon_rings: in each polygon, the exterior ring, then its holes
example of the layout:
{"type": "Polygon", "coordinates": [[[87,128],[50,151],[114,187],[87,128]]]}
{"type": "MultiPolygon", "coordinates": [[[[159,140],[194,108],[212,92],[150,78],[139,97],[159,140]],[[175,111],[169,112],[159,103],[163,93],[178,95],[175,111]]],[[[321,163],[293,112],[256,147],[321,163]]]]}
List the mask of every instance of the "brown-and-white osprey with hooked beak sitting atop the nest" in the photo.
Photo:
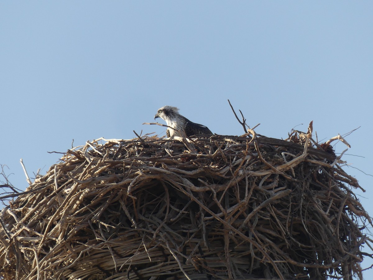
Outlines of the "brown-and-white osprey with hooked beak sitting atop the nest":
{"type": "Polygon", "coordinates": [[[176,107],[164,106],[160,108],[154,116],[154,119],[156,118],[162,118],[164,121],[166,121],[169,127],[175,128],[175,130],[172,128],[167,128],[167,137],[182,136],[178,130],[184,131],[186,136],[196,134],[213,134],[209,128],[205,127],[204,125],[195,124],[194,122],[191,122],[189,119],[180,115],[179,109],[176,107]]]}

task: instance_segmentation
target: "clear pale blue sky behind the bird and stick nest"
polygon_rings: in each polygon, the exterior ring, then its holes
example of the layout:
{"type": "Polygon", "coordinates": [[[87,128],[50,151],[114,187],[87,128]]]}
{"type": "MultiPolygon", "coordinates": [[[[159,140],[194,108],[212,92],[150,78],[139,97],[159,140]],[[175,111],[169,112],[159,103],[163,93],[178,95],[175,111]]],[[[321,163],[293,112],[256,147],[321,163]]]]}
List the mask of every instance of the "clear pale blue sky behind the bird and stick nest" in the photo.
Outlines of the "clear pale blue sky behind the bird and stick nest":
{"type": "Polygon", "coordinates": [[[372,15],[372,1],[1,1],[0,164],[25,189],[20,158],[45,174],[59,158],[47,151],[72,139],[163,135],[142,123],[164,105],[242,134],[230,99],[268,137],[361,126],[342,159],[373,215],[373,177],[358,170],[373,174],[372,15]]]}

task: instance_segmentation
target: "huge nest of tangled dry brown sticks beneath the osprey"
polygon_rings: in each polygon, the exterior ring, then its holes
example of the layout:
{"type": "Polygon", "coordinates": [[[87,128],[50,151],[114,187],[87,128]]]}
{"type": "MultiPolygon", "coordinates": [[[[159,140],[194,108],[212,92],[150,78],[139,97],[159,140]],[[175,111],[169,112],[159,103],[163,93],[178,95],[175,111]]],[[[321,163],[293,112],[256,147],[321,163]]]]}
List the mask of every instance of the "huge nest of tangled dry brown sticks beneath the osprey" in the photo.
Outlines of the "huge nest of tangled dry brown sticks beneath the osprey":
{"type": "Polygon", "coordinates": [[[361,279],[357,180],[309,137],[253,140],[68,150],[1,212],[0,278],[361,279]]]}

